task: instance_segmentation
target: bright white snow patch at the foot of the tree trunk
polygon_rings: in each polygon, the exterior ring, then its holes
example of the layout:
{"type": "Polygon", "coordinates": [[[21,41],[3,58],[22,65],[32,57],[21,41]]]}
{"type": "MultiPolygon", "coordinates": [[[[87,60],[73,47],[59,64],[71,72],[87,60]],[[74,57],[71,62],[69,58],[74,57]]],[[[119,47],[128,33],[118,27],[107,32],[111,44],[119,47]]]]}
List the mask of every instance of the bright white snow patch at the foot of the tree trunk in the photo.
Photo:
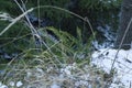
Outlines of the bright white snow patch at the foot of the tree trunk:
{"type": "MultiPolygon", "coordinates": [[[[112,50],[112,48],[102,48],[95,52],[91,56],[92,65],[97,65],[101,67],[107,73],[110,73],[111,66],[114,63],[114,69],[117,75],[114,77],[114,81],[120,81],[125,88],[130,87],[130,82],[132,81],[132,50],[112,50]]],[[[111,88],[116,85],[111,84],[111,88]]],[[[116,86],[117,87],[117,86],[116,86]]]]}

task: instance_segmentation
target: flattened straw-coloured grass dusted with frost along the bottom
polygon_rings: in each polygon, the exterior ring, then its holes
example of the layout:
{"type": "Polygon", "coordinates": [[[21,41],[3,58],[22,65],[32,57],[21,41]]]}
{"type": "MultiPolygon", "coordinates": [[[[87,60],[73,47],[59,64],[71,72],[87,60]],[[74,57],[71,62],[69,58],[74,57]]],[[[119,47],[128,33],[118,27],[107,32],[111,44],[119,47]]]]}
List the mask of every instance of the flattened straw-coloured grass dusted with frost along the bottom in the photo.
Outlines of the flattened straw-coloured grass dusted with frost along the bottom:
{"type": "MultiPolygon", "coordinates": [[[[22,81],[10,81],[8,87],[15,88],[92,88],[103,87],[103,72],[86,64],[64,64],[61,67],[48,65],[47,67],[34,67],[25,69],[22,81]],[[100,72],[100,73],[99,73],[100,72]],[[98,74],[97,74],[98,73],[98,74]]],[[[21,78],[20,78],[21,79],[21,78]]],[[[11,80],[11,79],[10,79],[11,80]]]]}

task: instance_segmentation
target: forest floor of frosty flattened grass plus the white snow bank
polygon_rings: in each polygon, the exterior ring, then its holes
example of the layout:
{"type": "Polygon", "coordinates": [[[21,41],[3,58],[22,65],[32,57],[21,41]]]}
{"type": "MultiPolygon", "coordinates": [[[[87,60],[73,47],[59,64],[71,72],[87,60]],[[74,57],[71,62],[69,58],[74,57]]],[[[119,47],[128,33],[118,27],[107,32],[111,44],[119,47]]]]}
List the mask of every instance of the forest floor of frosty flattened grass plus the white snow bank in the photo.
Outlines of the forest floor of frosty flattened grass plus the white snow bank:
{"type": "Polygon", "coordinates": [[[26,69],[28,73],[24,78],[26,82],[23,82],[23,80],[11,80],[8,82],[8,86],[0,82],[0,88],[91,88],[95,84],[96,87],[101,88],[105,85],[101,79],[102,75],[97,75],[95,70],[97,72],[96,68],[100,68],[98,70],[102,69],[109,76],[112,64],[114,75],[112,76],[112,82],[109,85],[109,88],[131,88],[132,50],[117,51],[112,48],[94,52],[91,55],[91,66],[73,63],[64,65],[61,68],[50,66],[46,72],[38,67],[26,69]],[[116,62],[113,64],[114,59],[116,62]]]}

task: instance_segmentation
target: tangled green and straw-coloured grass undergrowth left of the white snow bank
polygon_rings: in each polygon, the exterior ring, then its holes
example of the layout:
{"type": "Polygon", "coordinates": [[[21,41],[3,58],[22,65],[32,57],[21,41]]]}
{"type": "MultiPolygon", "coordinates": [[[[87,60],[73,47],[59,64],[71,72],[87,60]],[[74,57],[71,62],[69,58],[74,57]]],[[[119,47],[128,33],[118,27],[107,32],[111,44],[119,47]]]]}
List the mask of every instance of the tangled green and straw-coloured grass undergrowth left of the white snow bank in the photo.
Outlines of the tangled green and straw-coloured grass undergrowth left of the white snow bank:
{"type": "MultiPolygon", "coordinates": [[[[20,9],[22,12],[24,11],[21,6],[20,9]]],[[[77,28],[77,36],[73,36],[53,26],[35,28],[26,14],[28,11],[23,12],[21,16],[9,24],[8,29],[0,33],[1,36],[3,33],[8,33],[10,28],[18,22],[30,30],[26,34],[14,36],[8,43],[9,46],[13,45],[12,47],[18,48],[19,53],[8,63],[0,64],[0,69],[2,69],[0,80],[3,84],[11,87],[11,81],[21,80],[23,82],[22,88],[48,88],[56,84],[62,88],[103,88],[106,86],[106,73],[90,65],[91,41],[95,38],[95,34],[87,37],[88,42],[84,43],[81,29],[77,28]],[[20,20],[23,16],[28,20],[26,23],[20,20]]],[[[78,15],[75,14],[75,16],[78,15]]],[[[7,44],[3,47],[7,47],[7,44]]]]}

